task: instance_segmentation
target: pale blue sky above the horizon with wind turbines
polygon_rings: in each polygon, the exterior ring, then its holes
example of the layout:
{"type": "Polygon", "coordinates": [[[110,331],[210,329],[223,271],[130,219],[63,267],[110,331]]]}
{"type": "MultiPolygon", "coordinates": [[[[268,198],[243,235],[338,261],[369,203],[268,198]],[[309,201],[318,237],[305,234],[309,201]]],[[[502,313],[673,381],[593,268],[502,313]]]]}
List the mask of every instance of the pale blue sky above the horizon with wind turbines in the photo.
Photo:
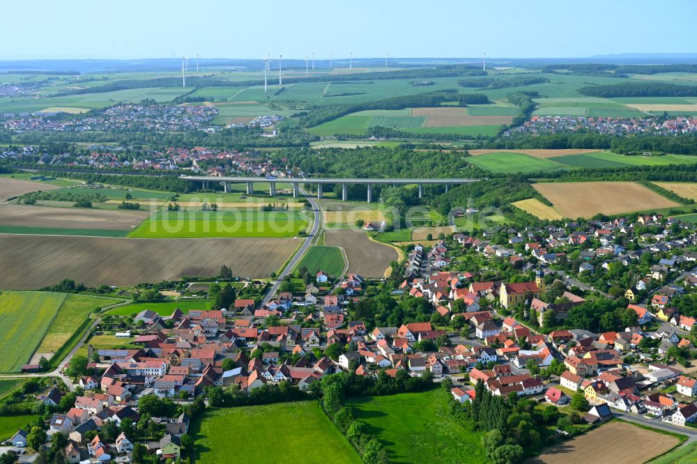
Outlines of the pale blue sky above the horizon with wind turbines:
{"type": "Polygon", "coordinates": [[[697,52],[693,0],[39,0],[2,10],[0,59],[697,52]]]}

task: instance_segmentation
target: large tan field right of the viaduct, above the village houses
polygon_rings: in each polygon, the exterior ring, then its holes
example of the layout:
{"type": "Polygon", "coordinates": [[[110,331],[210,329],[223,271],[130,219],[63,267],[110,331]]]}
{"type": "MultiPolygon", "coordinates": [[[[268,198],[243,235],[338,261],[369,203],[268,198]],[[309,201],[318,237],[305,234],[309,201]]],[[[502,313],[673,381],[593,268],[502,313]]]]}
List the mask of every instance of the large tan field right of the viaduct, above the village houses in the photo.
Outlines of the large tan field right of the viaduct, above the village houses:
{"type": "Polygon", "coordinates": [[[533,187],[569,219],[679,206],[633,182],[550,182],[533,187]]]}

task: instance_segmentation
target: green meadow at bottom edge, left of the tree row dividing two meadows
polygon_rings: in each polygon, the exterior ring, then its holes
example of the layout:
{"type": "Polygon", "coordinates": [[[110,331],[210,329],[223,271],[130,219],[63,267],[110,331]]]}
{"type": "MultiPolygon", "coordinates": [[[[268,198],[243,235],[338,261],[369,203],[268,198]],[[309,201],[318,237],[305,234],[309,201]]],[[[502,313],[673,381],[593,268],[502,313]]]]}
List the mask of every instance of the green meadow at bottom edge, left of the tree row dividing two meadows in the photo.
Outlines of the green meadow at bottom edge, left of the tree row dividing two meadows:
{"type": "Polygon", "coordinates": [[[192,430],[197,464],[361,462],[316,401],[208,408],[192,430]],[[260,431],[266,436],[263,446],[251,446],[259,442],[260,431]]]}

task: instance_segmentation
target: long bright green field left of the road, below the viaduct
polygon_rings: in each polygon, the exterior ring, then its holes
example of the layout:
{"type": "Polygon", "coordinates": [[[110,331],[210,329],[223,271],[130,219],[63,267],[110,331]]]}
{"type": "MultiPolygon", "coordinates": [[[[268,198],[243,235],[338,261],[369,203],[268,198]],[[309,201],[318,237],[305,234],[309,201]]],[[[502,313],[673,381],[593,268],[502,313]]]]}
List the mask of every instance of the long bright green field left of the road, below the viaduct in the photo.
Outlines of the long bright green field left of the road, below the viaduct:
{"type": "Polygon", "coordinates": [[[130,238],[294,237],[307,228],[305,211],[159,211],[130,238]]]}

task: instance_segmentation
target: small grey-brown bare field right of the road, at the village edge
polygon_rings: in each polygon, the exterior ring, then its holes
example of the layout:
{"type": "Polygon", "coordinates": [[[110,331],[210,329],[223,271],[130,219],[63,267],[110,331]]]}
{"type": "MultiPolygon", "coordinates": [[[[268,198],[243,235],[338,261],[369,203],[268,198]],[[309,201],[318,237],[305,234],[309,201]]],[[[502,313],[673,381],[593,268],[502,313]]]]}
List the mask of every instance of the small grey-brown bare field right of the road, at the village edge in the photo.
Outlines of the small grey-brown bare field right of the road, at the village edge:
{"type": "Polygon", "coordinates": [[[396,248],[370,240],[367,233],[353,229],[326,231],[325,245],[343,247],[348,258],[348,272],[363,277],[385,277],[392,261],[399,261],[396,248]]]}

